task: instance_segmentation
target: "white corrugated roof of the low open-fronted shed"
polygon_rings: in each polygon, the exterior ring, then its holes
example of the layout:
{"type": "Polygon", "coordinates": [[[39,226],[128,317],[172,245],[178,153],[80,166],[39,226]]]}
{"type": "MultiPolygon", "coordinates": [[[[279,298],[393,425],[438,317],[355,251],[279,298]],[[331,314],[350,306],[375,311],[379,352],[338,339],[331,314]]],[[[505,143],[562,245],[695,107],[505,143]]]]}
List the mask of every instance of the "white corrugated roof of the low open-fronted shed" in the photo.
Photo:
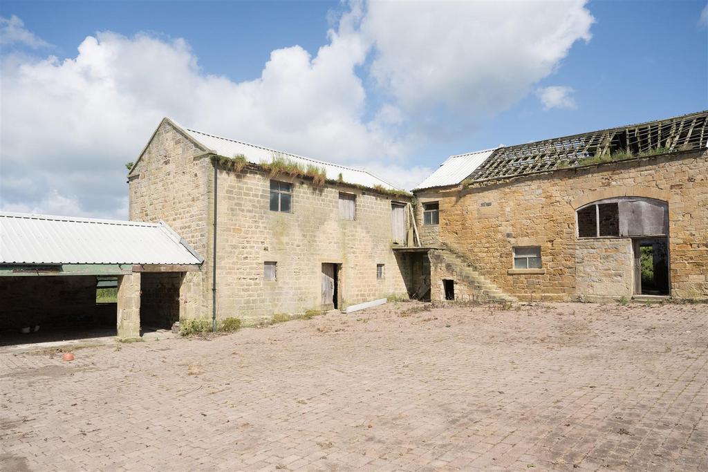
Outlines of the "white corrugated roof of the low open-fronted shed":
{"type": "Polygon", "coordinates": [[[200,264],[160,223],[0,212],[0,264],[200,264]]]}

